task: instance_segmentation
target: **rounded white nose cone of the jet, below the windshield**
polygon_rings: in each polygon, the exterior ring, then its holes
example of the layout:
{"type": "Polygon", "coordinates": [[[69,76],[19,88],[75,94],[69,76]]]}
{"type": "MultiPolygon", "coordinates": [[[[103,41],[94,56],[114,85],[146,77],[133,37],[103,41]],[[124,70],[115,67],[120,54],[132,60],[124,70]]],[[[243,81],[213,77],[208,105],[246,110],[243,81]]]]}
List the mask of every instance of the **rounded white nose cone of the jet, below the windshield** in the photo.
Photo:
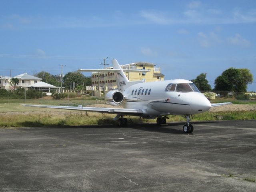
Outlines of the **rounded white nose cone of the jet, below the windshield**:
{"type": "Polygon", "coordinates": [[[191,108],[196,113],[202,113],[211,108],[211,103],[203,94],[200,93],[196,99],[191,102],[191,108]]]}

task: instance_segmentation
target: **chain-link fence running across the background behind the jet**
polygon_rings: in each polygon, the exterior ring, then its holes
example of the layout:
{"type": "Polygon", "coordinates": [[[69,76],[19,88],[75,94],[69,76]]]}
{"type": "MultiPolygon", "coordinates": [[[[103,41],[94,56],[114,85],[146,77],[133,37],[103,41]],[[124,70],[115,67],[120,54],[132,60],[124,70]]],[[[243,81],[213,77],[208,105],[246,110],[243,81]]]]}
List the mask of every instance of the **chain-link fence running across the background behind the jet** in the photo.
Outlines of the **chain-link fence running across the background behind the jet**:
{"type": "MultiPolygon", "coordinates": [[[[49,90],[48,89],[15,89],[6,90],[0,89],[0,99],[2,102],[9,102],[11,100],[23,100],[22,102],[31,102],[31,100],[87,100],[92,99],[103,100],[103,91],[98,90],[49,90]],[[100,98],[101,96],[101,98],[100,98]]],[[[239,101],[255,101],[255,92],[202,92],[209,100],[239,100],[239,101]]]]}

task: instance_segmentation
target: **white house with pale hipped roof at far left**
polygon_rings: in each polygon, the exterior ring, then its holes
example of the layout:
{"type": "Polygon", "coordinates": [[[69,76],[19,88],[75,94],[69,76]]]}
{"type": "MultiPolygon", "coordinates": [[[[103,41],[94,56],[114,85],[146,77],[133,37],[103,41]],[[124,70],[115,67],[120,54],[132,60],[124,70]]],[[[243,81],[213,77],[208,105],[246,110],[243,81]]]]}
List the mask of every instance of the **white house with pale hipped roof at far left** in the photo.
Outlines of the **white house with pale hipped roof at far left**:
{"type": "MultiPolygon", "coordinates": [[[[9,77],[9,76],[0,77],[0,88],[13,89],[13,86],[10,83],[11,78],[12,77],[9,77]]],[[[35,77],[35,76],[29,75],[27,73],[23,73],[23,74],[14,76],[14,78],[18,78],[18,80],[19,80],[19,83],[18,83],[18,85],[16,85],[16,87],[30,86],[30,85],[40,82],[42,80],[39,77],[35,77]]]]}

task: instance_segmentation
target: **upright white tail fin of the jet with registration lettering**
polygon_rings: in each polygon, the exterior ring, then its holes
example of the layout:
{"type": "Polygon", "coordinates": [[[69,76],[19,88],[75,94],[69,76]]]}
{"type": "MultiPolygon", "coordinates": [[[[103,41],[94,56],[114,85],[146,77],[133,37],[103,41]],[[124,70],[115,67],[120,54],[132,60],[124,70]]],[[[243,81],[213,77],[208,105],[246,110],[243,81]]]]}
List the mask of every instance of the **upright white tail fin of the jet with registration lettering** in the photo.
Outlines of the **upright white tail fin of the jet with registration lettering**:
{"type": "Polygon", "coordinates": [[[113,69],[119,69],[119,71],[116,72],[116,83],[117,83],[118,90],[123,92],[126,89],[126,87],[128,87],[129,80],[126,77],[125,73],[123,72],[122,68],[120,67],[116,59],[112,59],[112,65],[113,65],[113,69]]]}

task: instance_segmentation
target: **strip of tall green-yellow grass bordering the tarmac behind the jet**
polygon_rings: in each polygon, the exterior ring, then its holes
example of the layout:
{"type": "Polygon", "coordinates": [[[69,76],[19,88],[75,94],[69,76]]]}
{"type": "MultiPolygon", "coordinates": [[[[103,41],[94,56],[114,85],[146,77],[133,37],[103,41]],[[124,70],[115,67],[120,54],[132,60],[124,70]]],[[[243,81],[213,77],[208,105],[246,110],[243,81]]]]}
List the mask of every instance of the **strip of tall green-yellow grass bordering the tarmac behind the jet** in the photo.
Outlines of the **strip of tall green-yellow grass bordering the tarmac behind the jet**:
{"type": "MultiPolygon", "coordinates": [[[[214,116],[223,115],[224,120],[247,120],[256,119],[256,111],[237,112],[206,112],[193,116],[193,121],[216,120],[214,116]]],[[[14,114],[0,114],[0,127],[38,127],[38,126],[77,126],[95,124],[116,124],[113,120],[115,115],[78,111],[33,111],[17,112],[14,114]]],[[[169,116],[168,122],[185,121],[181,116],[169,116]]],[[[139,122],[138,117],[132,117],[134,123],[139,122]]],[[[142,122],[156,122],[156,120],[142,119],[142,122]]]]}

